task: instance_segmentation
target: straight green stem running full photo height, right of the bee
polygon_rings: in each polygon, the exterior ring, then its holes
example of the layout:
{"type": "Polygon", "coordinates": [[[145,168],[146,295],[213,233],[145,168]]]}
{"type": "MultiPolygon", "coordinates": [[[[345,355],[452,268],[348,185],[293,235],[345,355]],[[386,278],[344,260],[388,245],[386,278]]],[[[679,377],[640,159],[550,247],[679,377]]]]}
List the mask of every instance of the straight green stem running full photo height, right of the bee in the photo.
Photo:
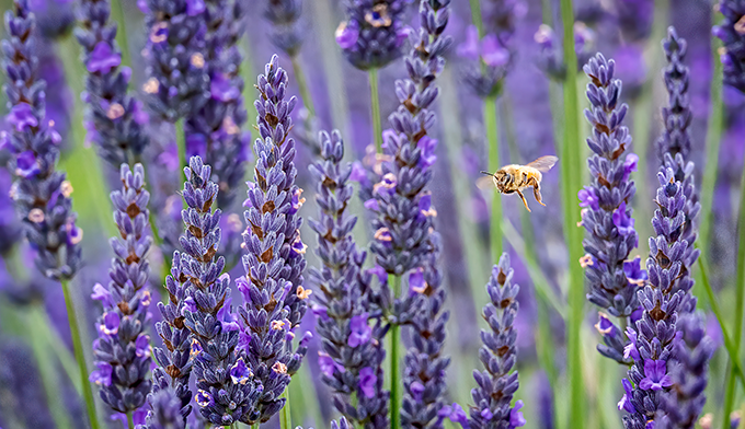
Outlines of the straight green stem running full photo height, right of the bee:
{"type": "Polygon", "coordinates": [[[562,200],[564,206],[564,236],[569,247],[569,305],[570,315],[566,324],[569,361],[568,378],[570,380],[570,414],[569,421],[576,429],[584,428],[585,416],[582,413],[585,402],[585,390],[582,376],[582,345],[580,332],[584,316],[584,276],[578,262],[582,256],[582,232],[577,228],[580,210],[576,208],[577,193],[581,188],[580,171],[580,137],[577,135],[580,124],[580,108],[577,106],[577,82],[572,77],[577,73],[576,53],[574,46],[574,12],[572,0],[561,0],[561,21],[564,31],[564,58],[566,76],[564,81],[564,140],[561,159],[561,185],[562,200]]]}

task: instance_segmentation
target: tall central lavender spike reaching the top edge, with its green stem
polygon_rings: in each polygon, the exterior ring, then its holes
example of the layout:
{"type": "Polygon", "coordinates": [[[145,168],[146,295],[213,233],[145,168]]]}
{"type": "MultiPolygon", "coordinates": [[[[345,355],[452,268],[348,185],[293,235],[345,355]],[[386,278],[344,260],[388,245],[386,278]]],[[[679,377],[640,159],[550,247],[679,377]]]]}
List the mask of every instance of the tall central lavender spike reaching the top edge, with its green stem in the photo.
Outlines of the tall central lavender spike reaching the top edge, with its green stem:
{"type": "MultiPolygon", "coordinates": [[[[425,304],[428,300],[419,299],[417,293],[404,293],[404,297],[399,299],[398,286],[406,273],[423,269],[432,252],[429,231],[436,211],[432,207],[432,196],[425,187],[432,179],[431,167],[437,159],[435,154],[437,140],[431,138],[427,132],[435,123],[435,114],[429,109],[438,95],[434,81],[443,71],[445,60],[442,56],[451,42],[449,37],[443,36],[449,18],[449,3],[447,0],[437,2],[425,0],[420,3],[421,27],[417,34],[412,35],[413,49],[405,58],[409,79],[396,82],[400,105],[389,116],[392,129],[383,132],[383,153],[377,156],[379,163],[374,166],[375,181],[378,183],[371,186],[369,179],[360,182],[364,198],[367,199],[365,206],[377,213],[373,220],[376,232],[370,248],[381,270],[391,277],[392,288],[389,288],[388,281],[383,282],[382,294],[386,295],[385,311],[391,313],[390,320],[393,325],[411,323],[412,317],[426,311],[425,308],[428,305],[425,304]]],[[[420,289],[420,292],[424,291],[424,288],[420,289]]],[[[432,292],[434,291],[433,289],[432,292]]],[[[439,295],[435,298],[437,299],[439,295]]],[[[432,304],[432,309],[435,312],[439,311],[438,304],[432,304]]],[[[416,331],[413,335],[417,335],[415,333],[416,331]]],[[[399,413],[401,404],[398,403],[400,397],[397,376],[400,359],[397,352],[400,341],[398,334],[398,326],[393,326],[391,328],[393,348],[390,356],[393,380],[390,408],[393,428],[399,427],[399,419],[402,416],[399,413]]],[[[416,363],[415,360],[408,362],[416,363]]],[[[443,364],[444,368],[447,364],[446,360],[444,362],[435,364],[443,364]]],[[[433,386],[440,387],[436,381],[433,381],[433,386]]],[[[437,403],[442,394],[444,392],[438,390],[427,392],[426,405],[437,403]]],[[[413,397],[420,396],[416,394],[413,397]]],[[[417,404],[422,405],[421,402],[417,404]]],[[[424,418],[414,409],[410,411],[414,414],[406,418],[411,418],[412,421],[424,418]]]]}

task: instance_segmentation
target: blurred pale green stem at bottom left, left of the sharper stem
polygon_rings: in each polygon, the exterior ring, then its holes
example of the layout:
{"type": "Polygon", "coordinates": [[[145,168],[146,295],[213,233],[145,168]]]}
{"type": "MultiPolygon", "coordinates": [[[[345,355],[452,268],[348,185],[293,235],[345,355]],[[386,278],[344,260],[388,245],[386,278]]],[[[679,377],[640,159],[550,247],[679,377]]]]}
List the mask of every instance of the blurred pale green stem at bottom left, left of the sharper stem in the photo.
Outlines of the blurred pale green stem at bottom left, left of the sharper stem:
{"type": "Polygon", "coordinates": [[[58,372],[56,370],[56,362],[54,355],[49,353],[44,331],[48,329],[45,326],[46,317],[42,315],[45,313],[41,304],[34,304],[25,312],[27,317],[27,325],[30,329],[30,341],[34,352],[38,372],[42,376],[42,384],[44,385],[44,393],[46,394],[47,405],[51,413],[51,418],[59,429],[70,428],[70,419],[60,398],[60,392],[57,389],[59,383],[58,372]],[[42,332],[39,332],[42,331],[42,332]]]}

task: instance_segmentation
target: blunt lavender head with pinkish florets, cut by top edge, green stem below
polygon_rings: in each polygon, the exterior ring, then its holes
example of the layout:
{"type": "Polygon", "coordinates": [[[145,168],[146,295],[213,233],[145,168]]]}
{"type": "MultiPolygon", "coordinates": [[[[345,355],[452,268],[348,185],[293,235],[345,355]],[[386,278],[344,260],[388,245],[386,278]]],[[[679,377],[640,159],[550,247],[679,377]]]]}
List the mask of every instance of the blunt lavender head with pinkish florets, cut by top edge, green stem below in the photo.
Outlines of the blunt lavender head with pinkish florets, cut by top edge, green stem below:
{"type": "Polygon", "coordinates": [[[148,76],[144,90],[150,108],[169,121],[195,114],[209,100],[205,69],[204,0],[146,0],[148,76]]]}

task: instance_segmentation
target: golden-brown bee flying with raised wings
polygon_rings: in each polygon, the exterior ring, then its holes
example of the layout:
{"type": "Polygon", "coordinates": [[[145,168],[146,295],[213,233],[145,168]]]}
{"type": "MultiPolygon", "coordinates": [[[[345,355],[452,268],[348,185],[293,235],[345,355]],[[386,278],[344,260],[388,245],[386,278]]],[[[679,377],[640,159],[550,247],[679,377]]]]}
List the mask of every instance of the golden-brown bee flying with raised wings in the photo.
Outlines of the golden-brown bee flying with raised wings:
{"type": "MultiPolygon", "coordinates": [[[[541,172],[546,173],[551,170],[557,161],[559,161],[557,156],[541,156],[527,165],[511,164],[497,170],[496,173],[482,171],[481,174],[491,176],[496,190],[500,193],[517,193],[517,195],[520,196],[525,208],[530,211],[528,201],[525,199],[522,190],[527,187],[532,187],[532,195],[536,197],[536,201],[538,201],[538,204],[541,206],[546,206],[543,201],[541,201],[540,196],[540,181],[543,178],[541,172]]],[[[482,185],[480,184],[480,186],[482,185]]]]}

